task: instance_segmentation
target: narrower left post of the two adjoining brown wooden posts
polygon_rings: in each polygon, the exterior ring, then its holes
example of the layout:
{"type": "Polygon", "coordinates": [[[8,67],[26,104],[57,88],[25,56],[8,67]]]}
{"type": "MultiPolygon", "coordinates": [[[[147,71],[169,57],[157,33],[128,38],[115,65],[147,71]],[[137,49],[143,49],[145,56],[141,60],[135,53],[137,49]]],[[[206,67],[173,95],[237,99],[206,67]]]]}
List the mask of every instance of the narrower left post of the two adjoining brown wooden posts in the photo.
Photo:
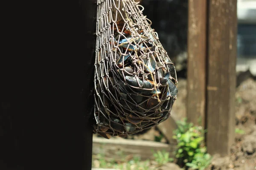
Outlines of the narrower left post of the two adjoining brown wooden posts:
{"type": "Polygon", "coordinates": [[[205,126],[206,14],[206,0],[189,0],[187,117],[196,125],[201,118],[202,126],[205,126]]]}

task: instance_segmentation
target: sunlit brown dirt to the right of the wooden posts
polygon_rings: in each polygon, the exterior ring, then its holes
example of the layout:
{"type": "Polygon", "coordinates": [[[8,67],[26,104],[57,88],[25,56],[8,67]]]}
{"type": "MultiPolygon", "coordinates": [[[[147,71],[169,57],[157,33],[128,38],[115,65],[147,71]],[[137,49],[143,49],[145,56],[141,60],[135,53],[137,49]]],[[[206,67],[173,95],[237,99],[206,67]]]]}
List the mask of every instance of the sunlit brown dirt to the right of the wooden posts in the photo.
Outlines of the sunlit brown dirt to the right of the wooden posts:
{"type": "Polygon", "coordinates": [[[236,133],[230,156],[212,159],[211,170],[256,169],[256,81],[247,79],[236,90],[236,133]]]}

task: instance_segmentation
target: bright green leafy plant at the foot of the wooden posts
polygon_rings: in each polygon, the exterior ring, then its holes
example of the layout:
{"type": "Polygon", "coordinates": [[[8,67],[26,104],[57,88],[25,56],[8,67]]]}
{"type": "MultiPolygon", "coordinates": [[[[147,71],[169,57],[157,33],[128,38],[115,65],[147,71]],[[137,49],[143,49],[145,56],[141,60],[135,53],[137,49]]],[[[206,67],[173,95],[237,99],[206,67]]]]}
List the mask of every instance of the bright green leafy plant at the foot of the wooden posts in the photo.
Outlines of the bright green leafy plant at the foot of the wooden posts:
{"type": "Polygon", "coordinates": [[[210,163],[210,156],[204,144],[206,130],[201,126],[193,126],[186,119],[177,122],[178,128],[174,131],[173,138],[177,140],[176,158],[180,165],[202,170],[210,163]],[[209,157],[209,158],[208,158],[209,157]]]}

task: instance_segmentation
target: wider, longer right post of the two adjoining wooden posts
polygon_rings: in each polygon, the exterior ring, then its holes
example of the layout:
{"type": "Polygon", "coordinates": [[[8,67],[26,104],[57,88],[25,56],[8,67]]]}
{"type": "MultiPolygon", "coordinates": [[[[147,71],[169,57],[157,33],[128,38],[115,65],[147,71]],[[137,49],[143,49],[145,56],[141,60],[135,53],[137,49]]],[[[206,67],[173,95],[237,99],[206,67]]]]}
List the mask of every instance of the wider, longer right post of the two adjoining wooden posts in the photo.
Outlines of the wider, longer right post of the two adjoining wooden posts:
{"type": "Polygon", "coordinates": [[[209,1],[207,147],[221,156],[235,139],[236,9],[236,0],[209,1]]]}

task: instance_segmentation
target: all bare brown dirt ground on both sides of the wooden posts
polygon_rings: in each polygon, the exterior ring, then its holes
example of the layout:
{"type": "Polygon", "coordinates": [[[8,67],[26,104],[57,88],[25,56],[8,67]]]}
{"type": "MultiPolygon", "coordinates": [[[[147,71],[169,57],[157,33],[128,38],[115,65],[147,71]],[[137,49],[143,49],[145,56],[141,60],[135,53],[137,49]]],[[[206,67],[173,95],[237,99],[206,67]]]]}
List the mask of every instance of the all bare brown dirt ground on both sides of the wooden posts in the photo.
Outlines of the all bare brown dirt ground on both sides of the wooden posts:
{"type": "MultiPolygon", "coordinates": [[[[256,81],[247,78],[236,90],[236,139],[230,156],[214,155],[209,170],[255,170],[256,169],[256,81]],[[245,133],[245,134],[241,134],[245,133]]],[[[178,99],[171,115],[177,121],[186,116],[186,79],[179,79],[178,99]]],[[[159,132],[156,128],[133,139],[154,140],[159,132]]],[[[163,139],[161,142],[165,142],[163,139]]]]}

